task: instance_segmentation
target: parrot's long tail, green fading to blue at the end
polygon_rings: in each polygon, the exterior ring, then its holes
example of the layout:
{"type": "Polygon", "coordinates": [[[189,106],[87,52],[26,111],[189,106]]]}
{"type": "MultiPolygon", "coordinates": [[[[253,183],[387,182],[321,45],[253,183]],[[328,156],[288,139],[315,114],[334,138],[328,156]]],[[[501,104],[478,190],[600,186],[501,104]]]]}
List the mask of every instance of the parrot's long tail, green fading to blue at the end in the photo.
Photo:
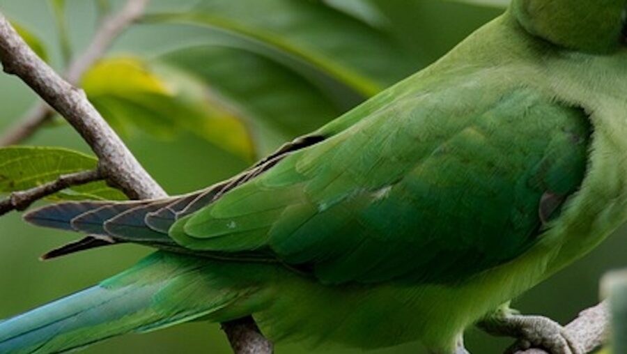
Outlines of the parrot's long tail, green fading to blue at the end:
{"type": "Polygon", "coordinates": [[[156,252],[98,286],[0,321],[0,353],[61,353],[210,317],[244,291],[219,284],[212,265],[217,263],[156,252]]]}

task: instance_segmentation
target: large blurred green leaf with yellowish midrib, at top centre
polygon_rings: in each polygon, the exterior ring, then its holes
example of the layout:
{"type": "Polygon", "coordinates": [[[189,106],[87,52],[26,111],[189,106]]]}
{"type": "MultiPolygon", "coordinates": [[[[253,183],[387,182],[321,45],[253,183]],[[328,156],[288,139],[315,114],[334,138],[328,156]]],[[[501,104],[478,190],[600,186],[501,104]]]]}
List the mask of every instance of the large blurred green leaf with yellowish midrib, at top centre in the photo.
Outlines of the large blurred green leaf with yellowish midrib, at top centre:
{"type": "Polygon", "coordinates": [[[266,56],[316,84],[324,77],[363,98],[417,67],[386,33],[320,1],[205,0],[188,13],[151,19],[204,26],[213,42],[266,56]]]}

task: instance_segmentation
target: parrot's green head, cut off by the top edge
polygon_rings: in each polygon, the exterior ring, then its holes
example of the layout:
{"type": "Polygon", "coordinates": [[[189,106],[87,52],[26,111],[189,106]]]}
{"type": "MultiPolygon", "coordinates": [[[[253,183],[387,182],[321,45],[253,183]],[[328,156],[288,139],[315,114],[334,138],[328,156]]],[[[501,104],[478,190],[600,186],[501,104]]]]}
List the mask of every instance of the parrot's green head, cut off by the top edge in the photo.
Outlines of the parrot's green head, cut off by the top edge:
{"type": "Polygon", "coordinates": [[[627,45],[627,0],[513,0],[511,11],[534,36],[584,52],[627,45]]]}

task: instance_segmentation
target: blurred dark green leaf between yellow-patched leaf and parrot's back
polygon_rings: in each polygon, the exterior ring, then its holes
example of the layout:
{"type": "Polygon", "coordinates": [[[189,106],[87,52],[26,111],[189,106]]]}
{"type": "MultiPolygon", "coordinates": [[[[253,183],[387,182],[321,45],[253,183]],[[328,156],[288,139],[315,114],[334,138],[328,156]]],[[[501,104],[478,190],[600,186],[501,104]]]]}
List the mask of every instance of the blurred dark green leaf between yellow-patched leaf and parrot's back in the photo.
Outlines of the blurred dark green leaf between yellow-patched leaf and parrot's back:
{"type": "Polygon", "coordinates": [[[320,91],[298,72],[242,49],[196,47],[162,60],[202,78],[212,105],[247,122],[258,155],[315,130],[343,111],[332,100],[335,92],[320,91]]]}

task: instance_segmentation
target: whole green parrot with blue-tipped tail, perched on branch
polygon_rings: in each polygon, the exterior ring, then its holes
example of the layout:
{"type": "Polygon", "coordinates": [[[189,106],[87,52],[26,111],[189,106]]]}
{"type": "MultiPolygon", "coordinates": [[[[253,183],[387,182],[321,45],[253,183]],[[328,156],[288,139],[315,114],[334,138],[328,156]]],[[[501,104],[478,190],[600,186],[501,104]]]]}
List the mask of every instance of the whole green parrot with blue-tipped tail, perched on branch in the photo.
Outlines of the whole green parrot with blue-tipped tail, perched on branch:
{"type": "Polygon", "coordinates": [[[169,199],[26,215],[157,252],[0,323],[0,353],[58,353],[253,316],[272,341],[419,341],[481,324],[581,354],[509,300],[627,221],[627,0],[513,0],[428,68],[231,180],[169,199]]]}

